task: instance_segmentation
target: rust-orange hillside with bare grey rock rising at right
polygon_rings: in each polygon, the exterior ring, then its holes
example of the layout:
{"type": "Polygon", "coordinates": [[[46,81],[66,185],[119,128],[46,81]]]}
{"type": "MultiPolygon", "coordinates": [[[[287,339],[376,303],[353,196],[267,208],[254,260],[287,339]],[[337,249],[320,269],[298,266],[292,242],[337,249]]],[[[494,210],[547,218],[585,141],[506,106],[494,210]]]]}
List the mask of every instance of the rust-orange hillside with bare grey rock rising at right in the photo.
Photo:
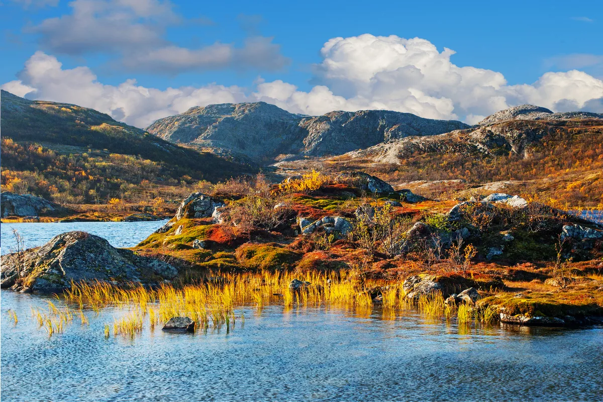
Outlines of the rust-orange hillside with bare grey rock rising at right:
{"type": "Polygon", "coordinates": [[[500,184],[500,190],[540,193],[574,206],[603,203],[603,116],[541,110],[514,115],[518,108],[497,112],[466,130],[406,137],[330,159],[277,166],[283,175],[305,168],[361,169],[428,196],[514,181],[510,187],[500,184]],[[441,183],[451,180],[456,182],[441,183]],[[415,181],[421,189],[411,185],[415,181]]]}

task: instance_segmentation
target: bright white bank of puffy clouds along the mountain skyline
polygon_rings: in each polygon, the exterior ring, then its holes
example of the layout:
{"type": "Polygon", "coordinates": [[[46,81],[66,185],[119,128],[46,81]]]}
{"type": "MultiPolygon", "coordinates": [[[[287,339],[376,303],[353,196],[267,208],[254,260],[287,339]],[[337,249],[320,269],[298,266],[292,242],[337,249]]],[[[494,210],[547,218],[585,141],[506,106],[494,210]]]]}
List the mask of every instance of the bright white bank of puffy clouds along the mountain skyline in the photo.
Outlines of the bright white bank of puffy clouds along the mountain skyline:
{"type": "MultiPolygon", "coordinates": [[[[214,51],[229,52],[219,46],[214,51]]],[[[178,58],[177,49],[174,54],[178,58]]],[[[87,67],[63,69],[54,56],[37,52],[25,63],[19,80],[4,84],[3,89],[28,98],[92,107],[137,127],[193,106],[223,102],[265,101],[306,115],[387,109],[472,124],[524,103],[554,111],[603,112],[603,81],[586,72],[548,72],[535,83],[510,86],[500,72],[456,66],[450,60],[453,54],[419,38],[370,34],[333,38],[321,49],[323,60],[315,66],[314,87],[303,91],[282,80],[257,80],[249,87],[213,83],[165,90],[139,86],[134,80],[104,85],[87,67]]],[[[189,63],[189,57],[201,55],[183,52],[179,57],[189,63]]]]}

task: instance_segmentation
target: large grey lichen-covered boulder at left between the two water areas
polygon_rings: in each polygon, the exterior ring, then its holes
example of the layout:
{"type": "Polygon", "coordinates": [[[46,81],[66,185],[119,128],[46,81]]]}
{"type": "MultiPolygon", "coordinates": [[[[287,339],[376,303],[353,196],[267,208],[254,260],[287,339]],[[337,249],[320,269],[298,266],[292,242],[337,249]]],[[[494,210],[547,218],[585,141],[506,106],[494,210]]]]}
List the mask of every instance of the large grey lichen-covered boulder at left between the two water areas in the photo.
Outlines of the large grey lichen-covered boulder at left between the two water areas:
{"type": "Polygon", "coordinates": [[[42,247],[7,254],[1,263],[1,287],[40,293],[63,291],[71,281],[156,283],[178,274],[168,263],[115,248],[83,231],[59,234],[42,247]]]}

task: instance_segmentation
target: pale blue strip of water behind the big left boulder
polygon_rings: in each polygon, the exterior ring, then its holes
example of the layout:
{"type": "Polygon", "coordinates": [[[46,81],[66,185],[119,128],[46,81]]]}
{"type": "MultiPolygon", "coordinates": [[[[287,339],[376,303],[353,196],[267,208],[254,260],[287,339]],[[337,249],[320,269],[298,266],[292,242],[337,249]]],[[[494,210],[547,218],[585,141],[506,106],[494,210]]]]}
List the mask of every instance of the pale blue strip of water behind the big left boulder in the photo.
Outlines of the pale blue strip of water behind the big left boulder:
{"type": "Polygon", "coordinates": [[[165,222],[167,221],[0,224],[2,254],[10,253],[15,246],[13,228],[23,237],[26,248],[41,246],[57,234],[72,230],[83,230],[101,236],[114,247],[134,247],[165,222]]]}

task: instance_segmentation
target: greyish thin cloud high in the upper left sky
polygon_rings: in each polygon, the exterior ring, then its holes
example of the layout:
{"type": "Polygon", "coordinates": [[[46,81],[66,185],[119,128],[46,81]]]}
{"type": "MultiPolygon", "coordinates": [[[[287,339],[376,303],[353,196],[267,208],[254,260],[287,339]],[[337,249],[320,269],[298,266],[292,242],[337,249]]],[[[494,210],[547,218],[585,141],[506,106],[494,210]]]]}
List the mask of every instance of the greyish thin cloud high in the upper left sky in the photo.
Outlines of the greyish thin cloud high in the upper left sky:
{"type": "Polygon", "coordinates": [[[215,43],[189,49],[169,42],[164,38],[166,28],[183,20],[169,1],[74,0],[69,6],[71,14],[28,28],[39,35],[43,48],[68,55],[120,54],[114,66],[169,74],[223,68],[278,70],[289,63],[272,38],[258,35],[239,47],[215,43]]]}

